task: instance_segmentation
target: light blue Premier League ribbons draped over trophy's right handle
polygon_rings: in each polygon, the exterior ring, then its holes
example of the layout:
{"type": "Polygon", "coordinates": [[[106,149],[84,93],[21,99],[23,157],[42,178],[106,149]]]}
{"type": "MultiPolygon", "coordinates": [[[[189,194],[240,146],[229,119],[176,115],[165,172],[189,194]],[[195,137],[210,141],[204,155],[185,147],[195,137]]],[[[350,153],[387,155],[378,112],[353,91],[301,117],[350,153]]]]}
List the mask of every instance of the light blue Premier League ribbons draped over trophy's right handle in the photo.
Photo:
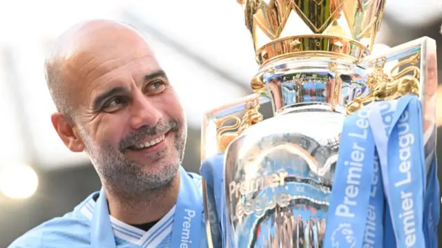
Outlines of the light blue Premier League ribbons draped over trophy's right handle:
{"type": "Polygon", "coordinates": [[[435,162],[426,182],[421,115],[407,95],[346,118],[325,248],[437,246],[439,182],[435,162]]]}

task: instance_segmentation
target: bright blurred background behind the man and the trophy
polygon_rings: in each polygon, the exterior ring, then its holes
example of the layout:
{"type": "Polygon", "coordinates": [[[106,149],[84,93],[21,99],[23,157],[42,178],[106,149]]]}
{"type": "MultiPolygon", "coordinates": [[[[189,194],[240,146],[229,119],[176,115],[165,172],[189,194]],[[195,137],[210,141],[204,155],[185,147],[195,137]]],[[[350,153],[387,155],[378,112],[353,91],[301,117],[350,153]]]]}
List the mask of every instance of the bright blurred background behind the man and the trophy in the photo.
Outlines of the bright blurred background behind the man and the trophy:
{"type": "MultiPolygon", "coordinates": [[[[55,106],[43,74],[51,42],[74,23],[94,18],[130,23],[153,46],[186,109],[189,171],[200,166],[204,111],[251,93],[258,65],[235,0],[0,1],[0,248],[100,188],[86,156],[68,151],[53,130],[55,106]]],[[[387,0],[376,43],[436,39],[442,82],[441,23],[441,0],[387,0]]]]}

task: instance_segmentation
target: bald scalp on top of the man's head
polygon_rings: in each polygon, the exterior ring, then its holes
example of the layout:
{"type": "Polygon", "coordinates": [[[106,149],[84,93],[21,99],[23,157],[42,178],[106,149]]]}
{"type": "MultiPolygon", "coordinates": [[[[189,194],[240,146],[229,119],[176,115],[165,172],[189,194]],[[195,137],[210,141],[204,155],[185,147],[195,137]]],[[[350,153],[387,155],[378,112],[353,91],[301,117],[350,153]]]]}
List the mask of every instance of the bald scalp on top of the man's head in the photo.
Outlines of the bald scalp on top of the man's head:
{"type": "Polygon", "coordinates": [[[73,117],[77,93],[93,71],[85,65],[96,59],[113,59],[115,52],[148,46],[144,37],[130,26],[106,19],[83,21],[68,28],[46,58],[46,81],[57,111],[73,117]],[[113,51],[110,55],[110,51],[113,51]]]}

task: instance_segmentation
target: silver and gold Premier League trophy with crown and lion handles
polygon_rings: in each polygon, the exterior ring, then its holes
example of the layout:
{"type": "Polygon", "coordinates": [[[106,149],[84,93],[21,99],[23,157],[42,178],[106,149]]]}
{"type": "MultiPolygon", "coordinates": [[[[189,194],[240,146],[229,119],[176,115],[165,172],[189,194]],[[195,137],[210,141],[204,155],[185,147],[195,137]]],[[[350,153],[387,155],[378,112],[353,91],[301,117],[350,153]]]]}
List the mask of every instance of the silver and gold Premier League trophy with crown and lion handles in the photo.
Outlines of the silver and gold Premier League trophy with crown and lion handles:
{"type": "MultiPolygon", "coordinates": [[[[260,69],[251,79],[253,94],[208,111],[204,117],[202,161],[224,153],[224,166],[213,169],[222,171],[222,181],[211,182],[211,187],[203,181],[209,247],[360,248],[352,240],[355,229],[345,229],[345,223],[338,223],[339,228],[327,234],[343,144],[349,147],[348,156],[354,158],[343,162],[352,166],[345,179],[354,184],[345,189],[347,205],[335,206],[334,211],[350,216],[349,209],[358,204],[351,195],[358,195],[357,189],[365,190],[357,188],[361,175],[356,173],[359,165],[355,162],[363,153],[356,153],[361,147],[356,142],[343,140],[345,120],[373,102],[417,96],[422,109],[422,131],[416,140],[423,140],[423,182],[426,188],[434,187],[428,185],[436,166],[435,41],[423,37],[372,55],[385,0],[238,3],[244,10],[260,69]],[[260,113],[269,104],[273,114],[260,113]],[[213,189],[213,184],[222,187],[213,189]],[[332,238],[325,242],[327,235],[332,238]],[[347,243],[337,245],[339,238],[347,243]]],[[[383,122],[392,118],[383,117],[383,122]]],[[[356,124],[368,122],[356,120],[356,124]]],[[[383,128],[372,126],[372,132],[383,128]]],[[[384,183],[380,187],[387,192],[390,186],[384,183]]],[[[405,199],[405,191],[402,193],[405,199]]],[[[410,201],[404,202],[401,206],[407,210],[410,201]]],[[[438,201],[433,203],[439,205],[438,201]]],[[[383,219],[388,217],[362,210],[365,224],[357,229],[365,231],[363,247],[381,247],[370,238],[375,238],[376,231],[387,232],[391,222],[385,224],[383,219]],[[381,227],[371,227],[370,221],[381,222],[381,227]]],[[[425,223],[434,221],[432,214],[439,215],[429,213],[425,223]]],[[[404,240],[408,247],[419,247],[413,246],[416,236],[412,230],[423,228],[412,226],[409,216],[404,212],[398,217],[403,220],[404,240]]],[[[391,239],[400,235],[396,231],[391,239]]],[[[427,243],[426,247],[432,246],[427,243]]]]}

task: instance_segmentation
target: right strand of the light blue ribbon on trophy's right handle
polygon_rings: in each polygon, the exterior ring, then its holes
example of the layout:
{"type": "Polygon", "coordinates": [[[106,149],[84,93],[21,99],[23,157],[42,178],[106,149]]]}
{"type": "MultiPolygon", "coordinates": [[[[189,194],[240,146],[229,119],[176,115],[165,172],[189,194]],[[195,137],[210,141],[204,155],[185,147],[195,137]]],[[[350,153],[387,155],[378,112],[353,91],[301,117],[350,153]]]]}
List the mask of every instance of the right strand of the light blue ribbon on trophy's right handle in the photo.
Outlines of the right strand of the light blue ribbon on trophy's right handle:
{"type": "Polygon", "coordinates": [[[371,108],[369,120],[372,126],[380,128],[388,122],[386,133],[374,135],[379,149],[387,147],[381,158],[381,163],[386,163],[381,164],[381,168],[394,233],[385,235],[394,234],[398,247],[426,247],[423,233],[426,183],[420,102],[407,95],[397,101],[372,104],[371,108]],[[396,108],[393,115],[387,115],[392,108],[396,108]]]}

